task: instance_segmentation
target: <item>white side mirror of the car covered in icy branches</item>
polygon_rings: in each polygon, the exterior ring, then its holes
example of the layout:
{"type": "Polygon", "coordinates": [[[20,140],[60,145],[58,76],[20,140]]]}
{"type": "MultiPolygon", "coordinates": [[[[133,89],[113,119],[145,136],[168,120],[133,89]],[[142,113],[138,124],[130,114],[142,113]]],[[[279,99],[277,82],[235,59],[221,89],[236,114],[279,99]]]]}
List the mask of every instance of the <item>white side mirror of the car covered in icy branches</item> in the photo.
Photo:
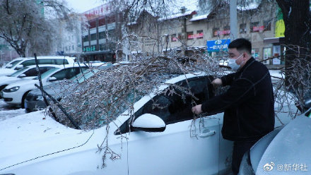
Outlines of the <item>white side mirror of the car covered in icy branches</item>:
{"type": "Polygon", "coordinates": [[[153,114],[143,114],[131,125],[133,131],[163,132],[165,128],[163,119],[153,114]]]}

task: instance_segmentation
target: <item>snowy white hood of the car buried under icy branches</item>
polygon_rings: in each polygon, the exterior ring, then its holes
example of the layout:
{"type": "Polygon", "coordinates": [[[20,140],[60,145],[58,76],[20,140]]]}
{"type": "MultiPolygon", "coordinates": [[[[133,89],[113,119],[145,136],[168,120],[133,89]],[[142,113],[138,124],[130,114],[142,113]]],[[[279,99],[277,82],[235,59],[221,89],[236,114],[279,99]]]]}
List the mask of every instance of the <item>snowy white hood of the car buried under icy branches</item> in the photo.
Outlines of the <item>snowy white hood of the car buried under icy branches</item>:
{"type": "Polygon", "coordinates": [[[6,128],[0,131],[0,174],[60,155],[96,150],[105,138],[105,128],[94,132],[68,128],[44,111],[1,121],[0,128],[6,128]]]}

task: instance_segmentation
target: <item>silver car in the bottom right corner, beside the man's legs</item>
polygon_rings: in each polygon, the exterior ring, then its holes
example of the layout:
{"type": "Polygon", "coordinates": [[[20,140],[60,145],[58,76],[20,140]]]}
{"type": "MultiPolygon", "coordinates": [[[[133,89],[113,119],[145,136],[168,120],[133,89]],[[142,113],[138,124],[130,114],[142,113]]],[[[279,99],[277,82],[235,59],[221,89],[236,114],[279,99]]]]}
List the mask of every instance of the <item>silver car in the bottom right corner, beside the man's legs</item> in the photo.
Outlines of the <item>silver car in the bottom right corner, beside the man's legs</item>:
{"type": "Polygon", "coordinates": [[[310,174],[310,116],[311,108],[260,139],[245,153],[239,174],[310,174]]]}

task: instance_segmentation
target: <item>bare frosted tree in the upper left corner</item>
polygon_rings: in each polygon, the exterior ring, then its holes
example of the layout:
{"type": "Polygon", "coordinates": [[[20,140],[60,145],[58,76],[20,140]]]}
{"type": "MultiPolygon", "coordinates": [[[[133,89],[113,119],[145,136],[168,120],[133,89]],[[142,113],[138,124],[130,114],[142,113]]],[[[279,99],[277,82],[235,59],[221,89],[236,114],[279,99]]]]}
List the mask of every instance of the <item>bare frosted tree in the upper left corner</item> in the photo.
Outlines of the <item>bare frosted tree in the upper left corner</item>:
{"type": "Polygon", "coordinates": [[[71,17],[64,1],[58,0],[2,0],[0,13],[0,37],[22,57],[49,54],[59,19],[71,17]]]}

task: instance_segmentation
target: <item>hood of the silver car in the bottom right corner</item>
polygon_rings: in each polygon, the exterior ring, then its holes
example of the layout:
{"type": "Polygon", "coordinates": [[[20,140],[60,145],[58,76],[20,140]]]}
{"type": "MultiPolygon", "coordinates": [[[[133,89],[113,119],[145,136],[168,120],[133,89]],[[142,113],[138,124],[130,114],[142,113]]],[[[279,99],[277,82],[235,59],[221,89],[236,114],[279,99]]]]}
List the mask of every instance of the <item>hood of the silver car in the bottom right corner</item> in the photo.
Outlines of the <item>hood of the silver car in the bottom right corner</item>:
{"type": "Polygon", "coordinates": [[[311,119],[303,115],[296,117],[296,119],[284,126],[266,147],[258,164],[256,174],[305,173],[305,171],[302,171],[301,168],[303,167],[301,166],[306,166],[305,169],[311,167],[310,138],[311,119]],[[298,169],[293,169],[294,166],[298,169]],[[264,167],[266,167],[265,170],[264,167]],[[271,168],[271,170],[268,171],[268,168],[271,168]]]}

